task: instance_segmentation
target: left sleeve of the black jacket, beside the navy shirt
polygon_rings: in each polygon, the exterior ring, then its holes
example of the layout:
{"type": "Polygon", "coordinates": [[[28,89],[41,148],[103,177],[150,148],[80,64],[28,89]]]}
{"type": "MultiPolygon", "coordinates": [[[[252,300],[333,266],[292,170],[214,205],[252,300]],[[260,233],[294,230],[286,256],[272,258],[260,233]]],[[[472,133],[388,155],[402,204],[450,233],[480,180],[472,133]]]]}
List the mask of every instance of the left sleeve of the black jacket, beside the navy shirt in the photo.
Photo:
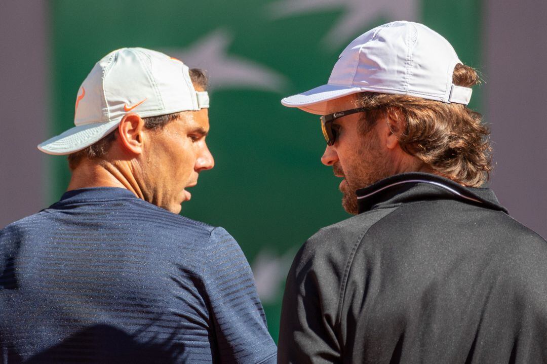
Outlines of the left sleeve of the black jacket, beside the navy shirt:
{"type": "Polygon", "coordinates": [[[302,246],[287,277],[278,342],[280,364],[341,362],[335,327],[339,263],[314,245],[312,237],[302,246]]]}

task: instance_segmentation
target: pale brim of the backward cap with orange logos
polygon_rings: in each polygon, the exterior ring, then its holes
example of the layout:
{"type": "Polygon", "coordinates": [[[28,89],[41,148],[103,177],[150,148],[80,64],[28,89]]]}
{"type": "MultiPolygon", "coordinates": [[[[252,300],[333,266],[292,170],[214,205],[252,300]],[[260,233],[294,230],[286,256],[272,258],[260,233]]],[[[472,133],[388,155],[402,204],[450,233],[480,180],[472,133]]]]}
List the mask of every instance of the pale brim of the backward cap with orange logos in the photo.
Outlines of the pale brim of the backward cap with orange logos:
{"type": "Polygon", "coordinates": [[[75,126],[38,145],[47,154],[66,155],[95,144],[120,124],[120,120],[75,126]]]}

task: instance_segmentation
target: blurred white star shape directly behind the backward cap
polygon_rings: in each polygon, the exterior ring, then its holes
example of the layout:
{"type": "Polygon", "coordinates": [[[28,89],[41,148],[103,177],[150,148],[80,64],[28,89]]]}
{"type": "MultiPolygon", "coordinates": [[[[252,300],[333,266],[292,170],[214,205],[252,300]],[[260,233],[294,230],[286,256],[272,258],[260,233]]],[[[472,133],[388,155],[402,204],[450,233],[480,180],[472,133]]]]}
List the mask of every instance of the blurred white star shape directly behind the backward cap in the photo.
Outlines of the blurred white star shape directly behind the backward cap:
{"type": "Polygon", "coordinates": [[[196,40],[186,49],[162,49],[190,68],[202,68],[210,75],[210,90],[255,89],[282,92],[286,88],[284,75],[257,62],[228,54],[231,43],[228,32],[217,30],[196,40]]]}

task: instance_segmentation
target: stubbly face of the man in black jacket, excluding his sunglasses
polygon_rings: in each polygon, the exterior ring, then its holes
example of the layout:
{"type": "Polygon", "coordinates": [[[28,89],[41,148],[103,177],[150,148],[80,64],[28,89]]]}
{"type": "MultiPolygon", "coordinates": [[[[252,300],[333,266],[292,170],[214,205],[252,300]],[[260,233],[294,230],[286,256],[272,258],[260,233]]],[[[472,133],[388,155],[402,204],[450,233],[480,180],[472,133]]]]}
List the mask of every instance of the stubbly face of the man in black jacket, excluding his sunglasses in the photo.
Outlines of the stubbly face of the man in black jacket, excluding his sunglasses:
{"type": "MultiPolygon", "coordinates": [[[[327,113],[356,108],[356,96],[350,95],[328,102],[327,113]]],[[[344,116],[334,121],[337,138],[328,145],[321,158],[326,166],[332,166],[337,177],[344,177],[340,191],[344,193],[342,206],[346,212],[357,214],[356,190],[392,175],[393,168],[388,149],[382,145],[376,126],[363,134],[358,130],[362,114],[344,116]]]]}

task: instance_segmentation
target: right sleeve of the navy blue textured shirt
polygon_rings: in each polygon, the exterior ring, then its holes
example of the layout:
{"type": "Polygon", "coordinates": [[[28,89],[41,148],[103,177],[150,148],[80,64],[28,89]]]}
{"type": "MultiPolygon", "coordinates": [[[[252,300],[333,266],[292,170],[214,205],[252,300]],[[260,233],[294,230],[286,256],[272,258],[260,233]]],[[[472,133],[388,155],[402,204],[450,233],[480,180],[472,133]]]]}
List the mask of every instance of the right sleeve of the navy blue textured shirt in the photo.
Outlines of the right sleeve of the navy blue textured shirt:
{"type": "Polygon", "coordinates": [[[217,227],[202,259],[218,362],[275,363],[277,348],[240,246],[226,230],[217,227]]]}

